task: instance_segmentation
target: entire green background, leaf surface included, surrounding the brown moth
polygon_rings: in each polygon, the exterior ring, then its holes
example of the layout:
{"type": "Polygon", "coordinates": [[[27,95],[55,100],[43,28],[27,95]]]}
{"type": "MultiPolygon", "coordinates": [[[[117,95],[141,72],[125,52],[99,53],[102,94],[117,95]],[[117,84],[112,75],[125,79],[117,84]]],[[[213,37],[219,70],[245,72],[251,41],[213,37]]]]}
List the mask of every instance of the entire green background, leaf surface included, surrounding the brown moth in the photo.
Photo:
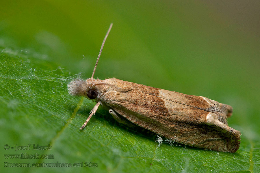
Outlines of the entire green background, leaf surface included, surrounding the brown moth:
{"type": "Polygon", "coordinates": [[[1,1],[1,172],[259,172],[259,9],[259,1],[1,1]],[[242,133],[236,153],[158,146],[156,135],[122,127],[102,108],[79,131],[94,104],[70,97],[66,85],[91,76],[111,22],[94,77],[233,106],[229,126],[242,133]],[[21,153],[54,158],[6,158],[21,153]],[[57,162],[72,168],[32,166],[57,162]]]}

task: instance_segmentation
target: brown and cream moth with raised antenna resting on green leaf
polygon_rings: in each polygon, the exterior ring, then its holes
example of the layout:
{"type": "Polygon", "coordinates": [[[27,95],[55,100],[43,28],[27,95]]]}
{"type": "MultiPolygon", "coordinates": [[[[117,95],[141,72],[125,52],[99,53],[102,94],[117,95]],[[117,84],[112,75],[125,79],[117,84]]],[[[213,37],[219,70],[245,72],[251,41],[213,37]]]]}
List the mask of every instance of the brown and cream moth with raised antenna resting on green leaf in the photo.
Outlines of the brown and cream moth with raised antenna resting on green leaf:
{"type": "Polygon", "coordinates": [[[75,79],[68,84],[69,94],[84,96],[96,102],[83,129],[99,105],[119,123],[138,125],[176,142],[208,150],[234,153],[240,144],[240,131],[228,126],[226,118],[233,108],[207,97],[186,95],[115,78],[75,79]],[[133,123],[133,124],[132,124],[133,123]]]}

